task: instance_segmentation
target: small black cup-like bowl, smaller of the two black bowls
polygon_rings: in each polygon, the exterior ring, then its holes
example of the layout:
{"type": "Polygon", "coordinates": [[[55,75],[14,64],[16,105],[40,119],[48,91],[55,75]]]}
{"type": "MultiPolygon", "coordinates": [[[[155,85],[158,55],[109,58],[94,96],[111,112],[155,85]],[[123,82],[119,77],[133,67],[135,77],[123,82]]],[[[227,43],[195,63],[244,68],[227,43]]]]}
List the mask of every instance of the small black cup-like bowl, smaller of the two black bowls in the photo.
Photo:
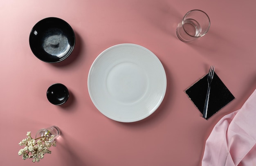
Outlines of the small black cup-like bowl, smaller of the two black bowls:
{"type": "Polygon", "coordinates": [[[61,105],[67,101],[69,93],[65,85],[55,83],[48,88],[46,96],[50,103],[54,105],[61,105]]]}

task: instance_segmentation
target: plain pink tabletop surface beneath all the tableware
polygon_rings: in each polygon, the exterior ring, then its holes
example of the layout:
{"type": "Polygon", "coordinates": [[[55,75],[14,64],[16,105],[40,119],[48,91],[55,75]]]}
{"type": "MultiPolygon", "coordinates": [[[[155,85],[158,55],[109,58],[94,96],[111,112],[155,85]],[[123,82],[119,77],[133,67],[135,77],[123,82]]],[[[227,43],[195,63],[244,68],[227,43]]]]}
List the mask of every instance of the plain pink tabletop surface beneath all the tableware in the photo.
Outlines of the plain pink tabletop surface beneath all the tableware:
{"type": "Polygon", "coordinates": [[[0,164],[2,166],[199,166],[212,128],[238,110],[256,88],[256,1],[233,0],[4,0],[0,2],[0,164]],[[192,9],[205,11],[211,27],[194,43],[182,43],[175,28],[192,9]],[[75,31],[76,46],[65,61],[34,56],[29,33],[39,20],[58,17],[75,31]],[[106,48],[134,43],[150,49],[167,76],[164,101],[135,123],[108,119],[93,105],[87,79],[106,48]],[[184,93],[210,65],[236,97],[208,121],[184,93]],[[46,90],[70,90],[62,106],[46,90]],[[39,163],[22,160],[18,143],[27,131],[61,128],[57,146],[39,163]]]}

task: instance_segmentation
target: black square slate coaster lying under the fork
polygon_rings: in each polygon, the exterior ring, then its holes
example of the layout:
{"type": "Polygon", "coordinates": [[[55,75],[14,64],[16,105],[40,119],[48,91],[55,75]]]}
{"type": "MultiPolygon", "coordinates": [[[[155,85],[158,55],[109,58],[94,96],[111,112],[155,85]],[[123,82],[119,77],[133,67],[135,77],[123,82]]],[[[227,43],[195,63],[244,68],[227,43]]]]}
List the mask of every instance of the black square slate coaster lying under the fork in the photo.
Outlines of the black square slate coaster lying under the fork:
{"type": "MultiPolygon", "coordinates": [[[[204,102],[206,98],[208,83],[206,74],[202,79],[185,90],[188,97],[195,104],[195,106],[203,113],[204,102]]],[[[211,82],[211,91],[209,97],[208,114],[206,119],[218,112],[221,108],[234,100],[235,97],[227,89],[224,83],[220,80],[218,75],[214,72],[213,80],[211,82]]]]}

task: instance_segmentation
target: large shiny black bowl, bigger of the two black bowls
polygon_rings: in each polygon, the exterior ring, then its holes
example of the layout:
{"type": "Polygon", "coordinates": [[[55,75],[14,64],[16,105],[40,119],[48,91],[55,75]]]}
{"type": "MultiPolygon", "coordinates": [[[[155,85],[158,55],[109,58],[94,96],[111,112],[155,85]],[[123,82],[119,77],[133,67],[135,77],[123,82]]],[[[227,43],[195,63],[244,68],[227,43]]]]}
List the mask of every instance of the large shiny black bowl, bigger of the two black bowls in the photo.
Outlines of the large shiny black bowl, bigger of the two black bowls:
{"type": "Polygon", "coordinates": [[[29,45],[33,54],[41,61],[57,63],[67,58],[75,46],[75,34],[64,20],[49,17],[40,20],[32,28],[29,45]]]}

